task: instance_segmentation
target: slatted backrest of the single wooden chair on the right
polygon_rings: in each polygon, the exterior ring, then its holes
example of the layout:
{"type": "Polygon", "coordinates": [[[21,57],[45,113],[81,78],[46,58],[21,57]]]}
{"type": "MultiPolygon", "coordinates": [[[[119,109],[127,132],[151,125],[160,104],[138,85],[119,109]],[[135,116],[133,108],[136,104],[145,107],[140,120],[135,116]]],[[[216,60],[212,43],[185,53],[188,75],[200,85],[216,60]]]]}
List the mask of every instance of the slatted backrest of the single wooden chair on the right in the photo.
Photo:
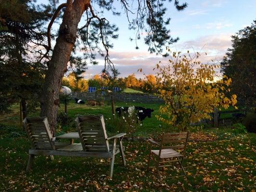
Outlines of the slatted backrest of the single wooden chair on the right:
{"type": "Polygon", "coordinates": [[[188,142],[188,135],[189,132],[163,133],[159,155],[162,149],[179,149],[184,154],[188,142]]]}

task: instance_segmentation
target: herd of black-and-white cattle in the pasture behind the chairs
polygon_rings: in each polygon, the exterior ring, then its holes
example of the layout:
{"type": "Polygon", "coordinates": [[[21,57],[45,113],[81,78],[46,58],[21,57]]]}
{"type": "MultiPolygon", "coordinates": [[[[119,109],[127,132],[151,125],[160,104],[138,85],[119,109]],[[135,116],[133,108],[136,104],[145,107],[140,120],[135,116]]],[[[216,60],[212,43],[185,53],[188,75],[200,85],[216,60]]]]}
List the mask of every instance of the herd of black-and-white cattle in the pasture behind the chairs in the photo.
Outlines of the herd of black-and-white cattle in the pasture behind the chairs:
{"type": "MultiPolygon", "coordinates": [[[[75,103],[77,104],[85,104],[85,101],[82,99],[75,98],[75,103]]],[[[120,107],[116,108],[116,114],[121,117],[125,114],[136,114],[138,117],[138,120],[143,121],[146,117],[151,118],[151,112],[153,112],[154,109],[151,108],[143,108],[140,106],[131,106],[131,107],[120,107]]]]}

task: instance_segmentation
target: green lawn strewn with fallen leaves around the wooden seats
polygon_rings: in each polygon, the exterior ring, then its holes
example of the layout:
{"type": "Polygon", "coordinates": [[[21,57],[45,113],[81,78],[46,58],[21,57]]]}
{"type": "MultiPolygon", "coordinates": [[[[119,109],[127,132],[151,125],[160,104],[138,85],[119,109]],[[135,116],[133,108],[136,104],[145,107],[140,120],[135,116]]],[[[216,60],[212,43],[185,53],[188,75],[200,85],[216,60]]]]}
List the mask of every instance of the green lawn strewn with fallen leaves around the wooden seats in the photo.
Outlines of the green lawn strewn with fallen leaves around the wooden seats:
{"type": "MultiPolygon", "coordinates": [[[[116,107],[129,104],[116,103],[116,107]]],[[[137,105],[137,104],[136,104],[137,105]]],[[[171,129],[156,120],[157,104],[138,104],[153,108],[152,118],[146,118],[136,136],[157,138],[171,129]],[[161,126],[160,126],[161,124],[161,126]]],[[[60,112],[64,110],[61,105],[60,112]]],[[[68,114],[103,114],[111,118],[111,107],[87,107],[70,104],[68,114]]],[[[31,115],[37,115],[38,111],[31,115]]],[[[107,123],[106,123],[107,124],[107,123]]],[[[108,129],[108,127],[107,127],[108,129]]],[[[75,131],[73,124],[58,129],[58,133],[75,131]]],[[[108,130],[109,134],[112,134],[108,130]]],[[[0,192],[95,192],[95,191],[212,191],[255,192],[256,135],[234,134],[231,128],[207,128],[191,133],[184,167],[187,177],[172,177],[177,170],[162,169],[161,179],[155,169],[146,173],[149,153],[146,142],[124,142],[127,167],[116,156],[113,178],[108,178],[108,159],[37,156],[33,170],[26,173],[30,143],[19,125],[18,105],[12,112],[0,116],[0,192]]],[[[178,169],[178,171],[180,171],[178,169]]]]}

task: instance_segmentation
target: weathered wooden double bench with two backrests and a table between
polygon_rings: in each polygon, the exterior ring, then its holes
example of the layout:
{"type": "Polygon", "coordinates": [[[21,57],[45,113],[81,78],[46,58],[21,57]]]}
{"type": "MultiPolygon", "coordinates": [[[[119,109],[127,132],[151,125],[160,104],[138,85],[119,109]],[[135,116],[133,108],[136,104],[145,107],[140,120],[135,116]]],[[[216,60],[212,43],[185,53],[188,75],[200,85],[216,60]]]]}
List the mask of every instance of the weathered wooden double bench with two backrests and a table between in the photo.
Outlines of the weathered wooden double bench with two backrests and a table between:
{"type": "Polygon", "coordinates": [[[115,155],[121,152],[123,165],[126,166],[122,147],[122,137],[126,133],[108,138],[103,116],[78,117],[75,122],[81,139],[80,144],[56,142],[56,138],[52,137],[50,133],[49,122],[46,117],[25,118],[23,121],[24,128],[31,141],[26,170],[31,169],[35,155],[47,155],[51,159],[53,156],[110,158],[110,177],[112,177],[115,155]],[[109,140],[113,140],[112,145],[109,145],[109,140]],[[116,145],[117,140],[119,140],[119,145],[116,145]]]}

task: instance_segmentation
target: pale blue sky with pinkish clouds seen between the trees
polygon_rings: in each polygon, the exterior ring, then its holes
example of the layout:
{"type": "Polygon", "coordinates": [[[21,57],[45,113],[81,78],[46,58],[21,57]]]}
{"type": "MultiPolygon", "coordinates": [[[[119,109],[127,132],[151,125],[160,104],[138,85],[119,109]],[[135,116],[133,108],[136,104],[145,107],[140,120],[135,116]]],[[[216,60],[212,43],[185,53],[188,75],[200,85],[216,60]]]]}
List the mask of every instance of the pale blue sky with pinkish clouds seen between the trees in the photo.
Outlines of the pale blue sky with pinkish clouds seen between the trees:
{"type": "MultiPolygon", "coordinates": [[[[183,0],[180,0],[180,3],[182,2],[183,0]]],[[[251,25],[256,19],[256,0],[186,0],[186,2],[188,7],[181,12],[175,9],[173,3],[166,4],[167,16],[171,17],[168,26],[171,29],[171,36],[180,38],[170,48],[172,51],[207,52],[207,56],[201,58],[202,62],[221,61],[227,48],[231,48],[231,36],[251,25]]],[[[115,5],[119,9],[120,1],[115,0],[115,5]]],[[[155,53],[150,54],[143,38],[138,42],[139,49],[135,49],[135,42],[129,40],[129,37],[134,38],[135,32],[128,29],[125,14],[113,16],[109,12],[104,12],[103,16],[119,27],[119,38],[112,41],[114,47],[110,49],[110,59],[115,64],[115,68],[121,72],[120,77],[132,73],[137,77],[143,77],[142,73],[137,72],[139,68],[150,74],[153,73],[152,69],[159,60],[163,63],[169,60],[155,53]]],[[[83,19],[80,23],[84,23],[83,19]]],[[[58,26],[55,24],[55,27],[58,26]]],[[[98,58],[98,62],[98,65],[88,66],[88,70],[84,73],[86,79],[101,72],[104,59],[98,58]]]]}

